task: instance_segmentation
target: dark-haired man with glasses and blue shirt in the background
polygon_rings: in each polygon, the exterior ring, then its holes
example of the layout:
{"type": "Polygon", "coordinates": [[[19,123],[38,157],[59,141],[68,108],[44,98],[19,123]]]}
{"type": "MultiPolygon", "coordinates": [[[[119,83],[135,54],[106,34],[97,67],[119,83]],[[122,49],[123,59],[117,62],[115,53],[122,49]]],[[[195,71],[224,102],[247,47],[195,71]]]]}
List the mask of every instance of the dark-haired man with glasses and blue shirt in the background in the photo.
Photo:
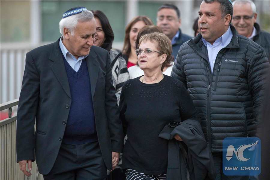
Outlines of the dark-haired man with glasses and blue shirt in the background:
{"type": "Polygon", "coordinates": [[[160,27],[163,33],[171,40],[173,45],[174,58],[180,46],[192,39],[191,36],[183,34],[179,26],[181,25],[180,11],[178,7],[173,4],[162,4],[158,8],[157,26],[160,27]]]}

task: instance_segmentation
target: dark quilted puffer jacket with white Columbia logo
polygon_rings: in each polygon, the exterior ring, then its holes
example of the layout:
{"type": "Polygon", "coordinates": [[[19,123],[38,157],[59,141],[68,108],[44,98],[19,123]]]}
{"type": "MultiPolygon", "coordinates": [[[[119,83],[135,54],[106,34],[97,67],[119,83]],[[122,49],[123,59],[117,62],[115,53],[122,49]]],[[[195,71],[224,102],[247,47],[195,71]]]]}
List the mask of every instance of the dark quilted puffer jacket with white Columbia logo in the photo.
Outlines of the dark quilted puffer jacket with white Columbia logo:
{"type": "Polygon", "coordinates": [[[262,47],[230,28],[232,40],[218,52],[213,74],[200,34],[180,47],[171,73],[186,85],[212,152],[222,152],[225,137],[255,136],[269,78],[262,47]]]}

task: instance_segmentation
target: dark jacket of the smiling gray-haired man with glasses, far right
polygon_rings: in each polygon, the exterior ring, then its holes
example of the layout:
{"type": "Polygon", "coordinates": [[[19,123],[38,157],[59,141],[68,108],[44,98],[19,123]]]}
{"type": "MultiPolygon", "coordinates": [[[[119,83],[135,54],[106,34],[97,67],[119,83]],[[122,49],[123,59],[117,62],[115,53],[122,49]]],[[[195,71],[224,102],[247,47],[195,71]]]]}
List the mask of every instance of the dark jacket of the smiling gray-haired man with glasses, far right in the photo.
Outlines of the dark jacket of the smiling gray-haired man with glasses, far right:
{"type": "Polygon", "coordinates": [[[270,33],[260,30],[259,24],[254,23],[257,34],[253,37],[253,41],[265,50],[268,61],[270,60],[270,33]]]}

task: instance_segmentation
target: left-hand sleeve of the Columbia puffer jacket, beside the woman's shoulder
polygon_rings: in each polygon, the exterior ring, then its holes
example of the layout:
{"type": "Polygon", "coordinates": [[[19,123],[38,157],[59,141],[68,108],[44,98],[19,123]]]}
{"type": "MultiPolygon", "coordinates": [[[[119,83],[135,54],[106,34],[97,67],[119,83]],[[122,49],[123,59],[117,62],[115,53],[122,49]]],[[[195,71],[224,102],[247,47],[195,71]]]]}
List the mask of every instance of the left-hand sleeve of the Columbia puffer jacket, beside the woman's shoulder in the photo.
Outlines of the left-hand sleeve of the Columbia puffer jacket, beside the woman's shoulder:
{"type": "Polygon", "coordinates": [[[180,47],[179,51],[178,51],[178,54],[176,56],[176,60],[174,62],[174,65],[173,65],[173,70],[171,72],[171,76],[180,80],[181,82],[184,83],[184,85],[187,87],[187,81],[186,81],[186,76],[184,74],[184,71],[183,71],[183,67],[182,67],[182,54],[181,54],[181,51],[183,49],[183,46],[180,47]]]}

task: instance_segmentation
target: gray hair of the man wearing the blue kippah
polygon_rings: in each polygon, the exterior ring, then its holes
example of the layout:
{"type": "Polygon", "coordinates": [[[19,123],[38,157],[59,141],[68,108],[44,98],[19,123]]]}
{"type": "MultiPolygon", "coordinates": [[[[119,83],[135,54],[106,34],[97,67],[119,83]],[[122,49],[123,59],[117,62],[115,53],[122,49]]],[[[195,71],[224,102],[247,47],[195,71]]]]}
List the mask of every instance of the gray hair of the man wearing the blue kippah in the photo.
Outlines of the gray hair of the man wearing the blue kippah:
{"type": "Polygon", "coordinates": [[[79,14],[74,14],[72,16],[65,17],[59,22],[60,33],[64,36],[64,28],[69,29],[71,35],[74,36],[74,30],[78,22],[87,22],[94,19],[94,15],[91,11],[83,11],[79,14]]]}

